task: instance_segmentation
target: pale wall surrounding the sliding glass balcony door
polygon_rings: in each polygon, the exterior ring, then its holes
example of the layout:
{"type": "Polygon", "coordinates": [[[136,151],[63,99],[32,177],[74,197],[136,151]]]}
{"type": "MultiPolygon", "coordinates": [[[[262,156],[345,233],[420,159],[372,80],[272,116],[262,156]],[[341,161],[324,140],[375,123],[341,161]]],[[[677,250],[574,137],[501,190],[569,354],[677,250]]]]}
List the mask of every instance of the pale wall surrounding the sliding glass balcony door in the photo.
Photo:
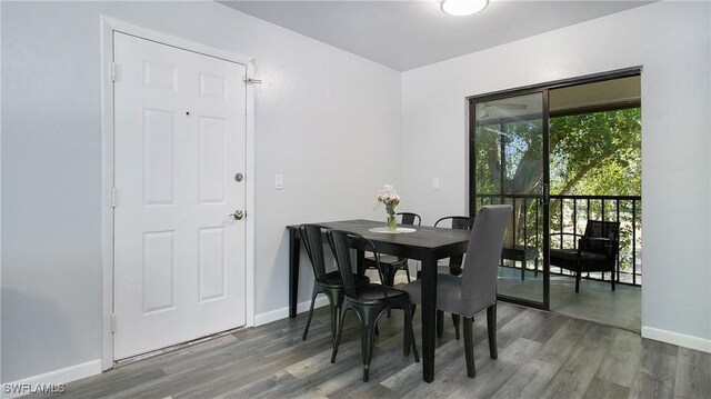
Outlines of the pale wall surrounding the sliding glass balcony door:
{"type": "Polygon", "coordinates": [[[711,350],[710,16],[654,3],[404,72],[404,197],[468,211],[465,97],[643,66],[643,333],[711,350]]]}

